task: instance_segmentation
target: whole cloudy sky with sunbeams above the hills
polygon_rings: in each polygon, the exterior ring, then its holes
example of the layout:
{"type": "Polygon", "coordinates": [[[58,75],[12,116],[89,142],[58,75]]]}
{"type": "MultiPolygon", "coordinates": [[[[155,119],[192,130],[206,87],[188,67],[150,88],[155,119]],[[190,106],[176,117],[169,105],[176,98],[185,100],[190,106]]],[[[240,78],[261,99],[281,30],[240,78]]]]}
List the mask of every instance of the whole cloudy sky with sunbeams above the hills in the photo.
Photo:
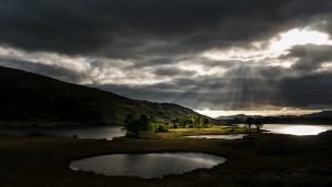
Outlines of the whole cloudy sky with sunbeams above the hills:
{"type": "Polygon", "coordinates": [[[0,0],[0,65],[218,116],[332,108],[331,0],[0,0]]]}

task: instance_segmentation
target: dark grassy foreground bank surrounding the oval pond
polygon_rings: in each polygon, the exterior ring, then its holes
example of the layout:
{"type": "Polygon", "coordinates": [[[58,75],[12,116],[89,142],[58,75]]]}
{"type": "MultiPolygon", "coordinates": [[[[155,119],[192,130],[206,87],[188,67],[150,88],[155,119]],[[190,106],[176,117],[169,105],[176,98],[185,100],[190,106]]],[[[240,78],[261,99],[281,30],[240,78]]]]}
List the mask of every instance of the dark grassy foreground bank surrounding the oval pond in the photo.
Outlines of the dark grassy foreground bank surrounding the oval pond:
{"type": "Polygon", "coordinates": [[[3,187],[332,186],[332,132],[319,136],[252,134],[243,139],[0,137],[3,187]],[[163,179],[73,172],[71,159],[108,153],[206,152],[228,158],[212,169],[163,179]]]}

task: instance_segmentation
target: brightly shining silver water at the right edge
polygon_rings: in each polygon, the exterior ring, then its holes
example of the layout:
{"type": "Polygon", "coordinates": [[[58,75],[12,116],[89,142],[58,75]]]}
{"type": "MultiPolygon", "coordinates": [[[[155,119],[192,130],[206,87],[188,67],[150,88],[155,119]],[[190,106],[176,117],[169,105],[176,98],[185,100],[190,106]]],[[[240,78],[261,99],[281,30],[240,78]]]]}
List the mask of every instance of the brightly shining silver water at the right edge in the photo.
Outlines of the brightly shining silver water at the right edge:
{"type": "Polygon", "coordinates": [[[332,129],[332,125],[284,125],[284,124],[267,124],[262,129],[274,134],[290,135],[318,135],[322,132],[332,129]]]}

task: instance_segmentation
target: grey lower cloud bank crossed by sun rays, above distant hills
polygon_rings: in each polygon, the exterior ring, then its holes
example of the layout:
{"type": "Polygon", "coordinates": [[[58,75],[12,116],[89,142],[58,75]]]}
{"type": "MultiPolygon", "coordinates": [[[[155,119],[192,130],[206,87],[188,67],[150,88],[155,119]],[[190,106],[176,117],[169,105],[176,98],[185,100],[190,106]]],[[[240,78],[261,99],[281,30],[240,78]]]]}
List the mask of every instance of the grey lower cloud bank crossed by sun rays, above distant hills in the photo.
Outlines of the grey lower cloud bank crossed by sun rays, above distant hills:
{"type": "MultiPolygon", "coordinates": [[[[133,98],[178,103],[196,110],[268,110],[269,107],[329,108],[332,105],[332,73],[287,77],[282,67],[239,67],[261,76],[175,79],[153,85],[98,85],[133,98]],[[250,70],[251,69],[251,70],[250,70]],[[283,79],[280,79],[282,72],[283,79]]],[[[229,75],[229,74],[228,74],[229,75]]]]}

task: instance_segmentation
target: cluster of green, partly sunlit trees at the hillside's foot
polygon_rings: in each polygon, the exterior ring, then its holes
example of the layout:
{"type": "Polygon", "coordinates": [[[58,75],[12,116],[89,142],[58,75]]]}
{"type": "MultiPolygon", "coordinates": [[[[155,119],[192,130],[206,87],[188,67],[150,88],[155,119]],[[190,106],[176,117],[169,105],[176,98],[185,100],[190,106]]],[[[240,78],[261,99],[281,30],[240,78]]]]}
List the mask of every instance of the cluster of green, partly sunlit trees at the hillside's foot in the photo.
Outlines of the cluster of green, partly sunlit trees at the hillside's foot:
{"type": "Polygon", "coordinates": [[[139,117],[129,114],[124,121],[124,129],[128,135],[137,136],[139,132],[164,133],[168,128],[189,127],[200,128],[209,125],[209,118],[196,115],[187,115],[184,118],[175,118],[172,123],[155,118],[148,115],[141,115],[139,117]]]}

